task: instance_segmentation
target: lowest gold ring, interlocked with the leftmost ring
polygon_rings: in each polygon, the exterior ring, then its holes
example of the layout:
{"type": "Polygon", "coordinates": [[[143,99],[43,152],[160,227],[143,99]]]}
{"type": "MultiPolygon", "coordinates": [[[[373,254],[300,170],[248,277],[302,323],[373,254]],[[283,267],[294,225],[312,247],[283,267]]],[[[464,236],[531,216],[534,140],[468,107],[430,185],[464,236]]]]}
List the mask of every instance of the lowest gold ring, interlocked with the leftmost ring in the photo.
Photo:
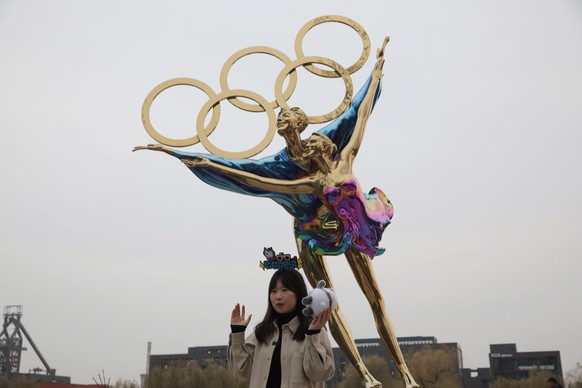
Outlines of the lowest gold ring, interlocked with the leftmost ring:
{"type": "Polygon", "coordinates": [[[198,119],[196,120],[196,132],[198,133],[198,139],[200,139],[200,143],[206,148],[210,153],[214,155],[224,156],[225,158],[230,159],[243,159],[243,158],[250,158],[251,156],[255,156],[265,148],[275,137],[276,131],[276,120],[275,120],[275,110],[269,108],[269,102],[261,97],[259,94],[255,92],[251,92],[250,90],[244,89],[231,89],[221,93],[216,94],[215,96],[211,97],[200,109],[200,113],[198,114],[198,119]],[[216,147],[214,144],[208,140],[208,135],[206,134],[207,130],[204,128],[204,120],[206,119],[206,115],[214,106],[218,105],[221,100],[225,98],[232,98],[232,97],[245,97],[254,100],[255,102],[259,103],[259,105],[263,108],[263,111],[267,112],[267,116],[269,118],[269,129],[267,134],[261,140],[259,144],[250,148],[246,151],[240,152],[229,152],[221,150],[220,148],[216,147]]]}

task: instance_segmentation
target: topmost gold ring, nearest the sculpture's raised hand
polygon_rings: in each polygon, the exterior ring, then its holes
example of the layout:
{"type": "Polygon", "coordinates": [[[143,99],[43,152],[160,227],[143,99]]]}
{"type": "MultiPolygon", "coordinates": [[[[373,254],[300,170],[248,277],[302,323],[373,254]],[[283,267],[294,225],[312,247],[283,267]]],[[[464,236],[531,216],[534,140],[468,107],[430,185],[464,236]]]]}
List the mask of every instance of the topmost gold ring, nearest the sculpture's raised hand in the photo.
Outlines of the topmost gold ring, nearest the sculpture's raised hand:
{"type": "MultiPolygon", "coordinates": [[[[353,65],[351,65],[350,67],[347,68],[348,73],[353,74],[356,71],[360,70],[362,68],[362,66],[364,66],[364,64],[368,60],[368,57],[370,56],[370,37],[368,36],[368,33],[366,32],[366,30],[364,30],[364,28],[359,23],[357,23],[356,21],[349,19],[345,16],[338,16],[338,15],[321,16],[321,17],[315,18],[315,19],[310,20],[307,23],[305,23],[305,25],[303,27],[301,27],[301,29],[297,33],[297,36],[295,37],[295,54],[297,55],[297,58],[304,57],[305,54],[303,53],[302,44],[303,44],[303,39],[305,38],[305,34],[307,34],[307,32],[309,30],[311,30],[313,27],[317,26],[318,24],[329,23],[329,22],[336,22],[336,23],[345,24],[345,25],[351,27],[353,30],[355,30],[358,33],[358,35],[360,35],[360,38],[362,38],[362,43],[364,46],[363,50],[362,50],[362,54],[360,55],[360,58],[358,58],[358,60],[353,65]]],[[[313,65],[306,65],[304,67],[305,67],[305,69],[307,69],[311,73],[316,74],[316,75],[320,75],[322,77],[326,77],[326,78],[339,77],[339,75],[335,71],[322,70],[322,69],[319,69],[313,65]]]]}

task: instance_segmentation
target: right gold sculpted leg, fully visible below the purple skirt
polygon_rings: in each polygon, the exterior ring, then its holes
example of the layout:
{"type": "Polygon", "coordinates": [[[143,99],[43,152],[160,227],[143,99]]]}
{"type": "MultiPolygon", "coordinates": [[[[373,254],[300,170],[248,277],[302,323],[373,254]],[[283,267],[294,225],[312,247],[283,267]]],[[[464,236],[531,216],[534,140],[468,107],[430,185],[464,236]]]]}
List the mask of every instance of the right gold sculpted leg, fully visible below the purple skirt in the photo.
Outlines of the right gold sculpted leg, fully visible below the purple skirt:
{"type": "Polygon", "coordinates": [[[380,338],[382,338],[382,341],[392,355],[392,359],[398,367],[406,387],[418,387],[419,385],[414,381],[414,378],[406,366],[406,362],[404,361],[404,357],[398,346],[398,341],[396,340],[394,328],[392,327],[392,323],[386,313],[384,298],[382,297],[380,288],[376,283],[376,277],[374,276],[372,260],[367,255],[353,248],[350,248],[345,255],[360,288],[370,303],[370,307],[374,313],[374,320],[376,321],[378,334],[380,334],[380,338]]]}

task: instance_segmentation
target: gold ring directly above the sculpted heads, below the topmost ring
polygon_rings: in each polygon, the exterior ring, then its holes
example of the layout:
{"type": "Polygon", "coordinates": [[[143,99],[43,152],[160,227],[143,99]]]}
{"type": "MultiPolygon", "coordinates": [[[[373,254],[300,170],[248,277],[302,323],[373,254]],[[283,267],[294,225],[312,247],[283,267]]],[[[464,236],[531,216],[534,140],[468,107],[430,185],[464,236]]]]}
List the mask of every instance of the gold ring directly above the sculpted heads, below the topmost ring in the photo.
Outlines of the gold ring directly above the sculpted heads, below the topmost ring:
{"type": "Polygon", "coordinates": [[[346,110],[346,108],[348,107],[348,105],[352,101],[352,95],[354,92],[352,79],[350,78],[350,75],[348,74],[347,70],[344,69],[339,63],[332,61],[331,59],[324,58],[324,57],[303,57],[301,59],[297,59],[297,60],[291,62],[290,64],[285,66],[285,68],[283,70],[281,70],[281,73],[279,73],[279,76],[277,77],[277,80],[275,81],[275,97],[277,98],[277,103],[279,104],[281,109],[289,109],[289,105],[287,105],[287,102],[285,101],[285,97],[284,97],[283,93],[281,93],[281,91],[283,89],[283,81],[287,77],[287,74],[289,74],[291,71],[294,71],[297,67],[302,66],[302,65],[305,66],[306,64],[312,64],[312,63],[319,63],[321,65],[326,65],[326,66],[331,67],[332,69],[334,69],[335,72],[337,72],[337,74],[339,74],[339,76],[342,77],[342,79],[344,80],[344,83],[346,85],[346,93],[344,94],[344,99],[342,100],[340,106],[338,106],[333,111],[326,113],[324,115],[321,115],[321,116],[307,116],[308,123],[319,124],[319,123],[325,123],[325,122],[328,122],[328,121],[335,119],[337,116],[342,114],[343,111],[346,110]]]}

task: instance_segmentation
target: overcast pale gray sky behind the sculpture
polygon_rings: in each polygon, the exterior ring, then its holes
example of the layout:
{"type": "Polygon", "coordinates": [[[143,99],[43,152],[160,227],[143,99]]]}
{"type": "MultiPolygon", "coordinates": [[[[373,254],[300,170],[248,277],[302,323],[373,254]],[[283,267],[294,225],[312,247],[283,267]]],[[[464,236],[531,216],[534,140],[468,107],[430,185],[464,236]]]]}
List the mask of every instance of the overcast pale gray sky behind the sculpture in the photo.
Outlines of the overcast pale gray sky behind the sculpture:
{"type": "MultiPolygon", "coordinates": [[[[271,275],[258,261],[264,246],[295,252],[290,216],[131,149],[153,142],[140,110],[158,83],[219,90],[235,51],[294,58],[299,28],[326,14],[358,21],[374,49],[392,38],[355,172],[395,206],[374,265],[397,335],[458,342],[465,367],[488,366],[489,344],[506,342],[559,350],[565,370],[582,362],[579,1],[1,0],[0,305],[24,305],[59,374],[137,379],[147,341],[156,354],[225,344],[236,302],[258,322],[271,275]]],[[[346,65],[360,50],[341,26],[304,47],[346,65]]],[[[249,57],[231,86],[271,99],[279,68],[249,57]]],[[[303,73],[291,102],[330,110],[338,82],[303,73]]],[[[177,88],[152,118],[186,136],[205,101],[177,88]]],[[[263,136],[264,117],[223,112],[217,145],[263,136]]],[[[354,336],[377,337],[344,258],[329,262],[354,336]]],[[[40,365],[25,353],[23,371],[40,365]]]]}

